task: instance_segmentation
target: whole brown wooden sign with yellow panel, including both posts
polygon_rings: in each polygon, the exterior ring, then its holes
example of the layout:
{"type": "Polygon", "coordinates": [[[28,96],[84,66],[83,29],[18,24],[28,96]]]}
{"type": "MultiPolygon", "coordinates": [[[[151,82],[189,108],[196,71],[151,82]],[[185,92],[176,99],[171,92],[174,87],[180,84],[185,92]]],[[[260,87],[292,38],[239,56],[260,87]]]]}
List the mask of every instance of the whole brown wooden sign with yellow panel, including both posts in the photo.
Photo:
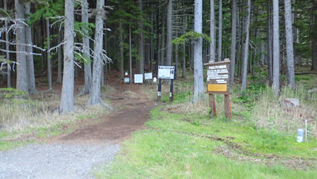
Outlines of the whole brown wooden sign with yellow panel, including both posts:
{"type": "Polygon", "coordinates": [[[214,94],[223,94],[224,112],[226,117],[231,119],[229,64],[229,60],[204,64],[207,65],[206,94],[209,94],[210,114],[212,117],[217,116],[214,94]]]}

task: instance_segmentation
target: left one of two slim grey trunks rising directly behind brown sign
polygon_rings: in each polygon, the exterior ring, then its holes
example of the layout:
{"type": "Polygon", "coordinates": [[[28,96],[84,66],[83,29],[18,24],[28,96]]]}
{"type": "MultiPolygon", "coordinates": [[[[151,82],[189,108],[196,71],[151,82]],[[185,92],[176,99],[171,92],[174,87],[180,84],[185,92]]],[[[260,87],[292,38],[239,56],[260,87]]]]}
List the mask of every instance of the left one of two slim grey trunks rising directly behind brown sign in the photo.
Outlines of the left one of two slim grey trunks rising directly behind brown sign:
{"type": "Polygon", "coordinates": [[[210,0],[210,61],[216,61],[215,1],[210,0]]]}

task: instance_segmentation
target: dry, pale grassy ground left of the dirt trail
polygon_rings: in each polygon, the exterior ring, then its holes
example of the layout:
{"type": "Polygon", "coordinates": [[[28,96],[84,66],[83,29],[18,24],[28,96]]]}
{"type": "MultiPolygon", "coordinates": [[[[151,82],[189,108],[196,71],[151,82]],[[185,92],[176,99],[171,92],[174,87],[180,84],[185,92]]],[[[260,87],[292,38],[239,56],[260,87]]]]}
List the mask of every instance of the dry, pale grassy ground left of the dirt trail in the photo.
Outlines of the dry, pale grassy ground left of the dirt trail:
{"type": "MultiPolygon", "coordinates": [[[[0,109],[5,109],[0,110],[0,151],[34,141],[27,137],[23,137],[21,141],[19,138],[23,135],[31,134],[45,138],[70,133],[71,129],[64,129],[64,124],[74,124],[77,120],[85,120],[109,112],[107,108],[101,106],[86,107],[89,96],[85,95],[74,96],[73,114],[60,115],[58,112],[60,95],[43,93],[21,99],[20,91],[6,90],[10,91],[10,95],[5,95],[6,92],[0,90],[0,109]]],[[[113,91],[113,87],[110,86],[101,89],[101,93],[112,94],[113,91]]],[[[103,100],[103,103],[108,105],[109,100],[103,100]]]]}

